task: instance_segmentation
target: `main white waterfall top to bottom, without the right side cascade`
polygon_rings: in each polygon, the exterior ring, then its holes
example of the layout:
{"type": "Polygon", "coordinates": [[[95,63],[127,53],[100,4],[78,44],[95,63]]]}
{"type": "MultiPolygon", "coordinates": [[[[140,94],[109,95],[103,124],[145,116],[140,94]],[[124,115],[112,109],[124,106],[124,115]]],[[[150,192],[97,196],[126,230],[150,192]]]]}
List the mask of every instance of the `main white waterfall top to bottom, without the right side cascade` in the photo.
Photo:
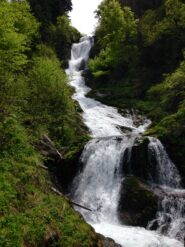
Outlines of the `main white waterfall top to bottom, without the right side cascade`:
{"type": "Polygon", "coordinates": [[[83,209],[80,212],[97,232],[124,247],[182,247],[175,239],[119,223],[117,207],[122,179],[119,165],[125,150],[133,146],[135,138],[146,130],[150,121],[135,126],[132,116],[123,117],[117,109],[86,97],[90,88],[85,85],[81,69],[88,60],[91,47],[89,37],[74,44],[66,71],[70,85],[76,91],[73,98],[80,104],[84,123],[94,138],[83,151],[81,161],[84,167],[74,180],[72,196],[75,201],[94,210],[92,213],[83,209]],[[124,134],[122,127],[130,129],[129,134],[124,134]]]}

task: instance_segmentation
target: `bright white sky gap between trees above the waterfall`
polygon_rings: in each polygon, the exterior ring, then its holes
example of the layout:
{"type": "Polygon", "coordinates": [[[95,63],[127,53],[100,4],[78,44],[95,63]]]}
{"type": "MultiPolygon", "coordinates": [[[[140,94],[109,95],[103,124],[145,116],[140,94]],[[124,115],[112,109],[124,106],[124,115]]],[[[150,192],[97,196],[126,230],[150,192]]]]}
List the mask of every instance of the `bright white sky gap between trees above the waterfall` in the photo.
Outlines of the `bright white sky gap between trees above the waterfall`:
{"type": "Polygon", "coordinates": [[[91,35],[95,30],[96,18],[94,11],[102,0],[72,0],[73,11],[71,22],[81,33],[91,35]]]}

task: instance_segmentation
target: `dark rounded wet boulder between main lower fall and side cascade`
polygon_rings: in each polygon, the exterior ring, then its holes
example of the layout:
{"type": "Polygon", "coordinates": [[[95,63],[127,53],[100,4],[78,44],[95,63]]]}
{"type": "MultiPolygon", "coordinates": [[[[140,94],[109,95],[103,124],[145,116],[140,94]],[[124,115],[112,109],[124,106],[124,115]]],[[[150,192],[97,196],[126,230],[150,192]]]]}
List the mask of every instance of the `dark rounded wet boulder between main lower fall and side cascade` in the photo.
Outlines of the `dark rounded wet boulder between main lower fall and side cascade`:
{"type": "Polygon", "coordinates": [[[158,197],[150,188],[134,176],[124,179],[118,207],[121,222],[146,227],[154,219],[157,208],[158,197]]]}

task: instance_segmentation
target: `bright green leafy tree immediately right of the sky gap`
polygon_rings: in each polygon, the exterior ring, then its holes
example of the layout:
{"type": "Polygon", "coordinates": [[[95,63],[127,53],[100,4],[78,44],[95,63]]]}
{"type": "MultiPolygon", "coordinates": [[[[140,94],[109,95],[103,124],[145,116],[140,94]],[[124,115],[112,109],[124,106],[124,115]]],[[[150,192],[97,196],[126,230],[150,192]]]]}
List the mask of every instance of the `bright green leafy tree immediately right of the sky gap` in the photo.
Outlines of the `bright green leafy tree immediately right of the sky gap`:
{"type": "Polygon", "coordinates": [[[100,52],[89,62],[95,77],[110,74],[117,67],[132,60],[137,51],[137,21],[128,7],[121,9],[118,1],[105,0],[98,9],[99,25],[96,29],[96,46],[100,52]]]}

